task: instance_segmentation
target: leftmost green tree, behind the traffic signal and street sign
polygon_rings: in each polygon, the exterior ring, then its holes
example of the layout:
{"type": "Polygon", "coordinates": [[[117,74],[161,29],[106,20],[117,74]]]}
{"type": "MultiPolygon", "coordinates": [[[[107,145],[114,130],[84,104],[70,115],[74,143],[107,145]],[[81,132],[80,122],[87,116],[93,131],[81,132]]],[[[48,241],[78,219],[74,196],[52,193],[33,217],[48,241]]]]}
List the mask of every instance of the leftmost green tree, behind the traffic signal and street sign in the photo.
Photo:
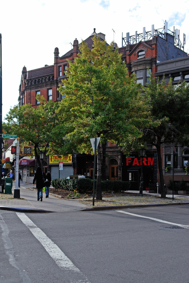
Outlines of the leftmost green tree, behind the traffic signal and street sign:
{"type": "Polygon", "coordinates": [[[34,156],[40,165],[39,152],[47,151],[49,143],[56,143],[52,129],[56,126],[58,102],[45,102],[38,96],[40,104],[33,108],[31,104],[15,105],[10,109],[3,122],[3,132],[15,134],[23,140],[24,144],[34,147],[34,156]]]}

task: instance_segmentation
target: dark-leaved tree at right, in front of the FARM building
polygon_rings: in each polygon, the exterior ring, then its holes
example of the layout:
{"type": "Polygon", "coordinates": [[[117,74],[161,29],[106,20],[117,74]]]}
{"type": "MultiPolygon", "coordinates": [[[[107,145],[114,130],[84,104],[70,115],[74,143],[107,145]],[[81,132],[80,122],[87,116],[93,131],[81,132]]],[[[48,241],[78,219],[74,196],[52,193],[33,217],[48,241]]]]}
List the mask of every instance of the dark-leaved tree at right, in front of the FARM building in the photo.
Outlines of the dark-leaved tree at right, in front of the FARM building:
{"type": "Polygon", "coordinates": [[[149,97],[151,118],[159,125],[144,129],[145,138],[157,149],[158,169],[160,174],[161,197],[165,198],[162,170],[162,144],[188,144],[189,138],[189,86],[186,82],[174,86],[172,79],[166,85],[163,80],[156,83],[151,75],[150,83],[144,89],[149,97]]]}

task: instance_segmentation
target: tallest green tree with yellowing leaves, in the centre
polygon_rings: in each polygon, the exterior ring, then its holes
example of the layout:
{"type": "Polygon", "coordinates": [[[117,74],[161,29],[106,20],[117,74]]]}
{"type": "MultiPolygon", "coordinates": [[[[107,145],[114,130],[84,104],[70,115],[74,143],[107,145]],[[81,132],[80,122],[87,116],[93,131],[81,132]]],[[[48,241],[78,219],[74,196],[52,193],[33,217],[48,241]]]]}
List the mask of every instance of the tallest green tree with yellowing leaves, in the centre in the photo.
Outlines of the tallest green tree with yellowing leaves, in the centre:
{"type": "MultiPolygon", "coordinates": [[[[74,63],[69,61],[67,80],[59,87],[66,97],[60,103],[64,127],[54,132],[62,138],[64,153],[92,153],[90,138],[100,137],[101,143],[111,140],[128,151],[141,127],[149,123],[149,108],[140,95],[135,77],[130,78],[121,55],[106,42],[94,37],[90,50],[80,46],[74,63]]],[[[58,148],[57,148],[58,150],[58,148]]],[[[101,153],[97,147],[96,199],[101,200],[101,153]]]]}

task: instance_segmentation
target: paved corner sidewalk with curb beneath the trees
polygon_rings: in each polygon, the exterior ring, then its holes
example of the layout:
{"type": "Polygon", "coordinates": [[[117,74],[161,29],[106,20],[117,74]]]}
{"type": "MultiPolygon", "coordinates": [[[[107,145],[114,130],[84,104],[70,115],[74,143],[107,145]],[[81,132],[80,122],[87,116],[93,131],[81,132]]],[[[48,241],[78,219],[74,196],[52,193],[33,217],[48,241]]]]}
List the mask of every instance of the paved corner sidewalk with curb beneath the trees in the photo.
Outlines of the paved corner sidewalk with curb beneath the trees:
{"type": "Polygon", "coordinates": [[[144,197],[139,197],[139,191],[129,191],[136,195],[102,197],[102,201],[95,200],[95,206],[92,206],[92,198],[61,199],[53,194],[49,194],[49,198],[46,199],[44,193],[43,201],[37,201],[37,190],[32,184],[21,184],[20,199],[16,199],[13,198],[14,189],[15,182],[12,188],[12,195],[0,193],[0,210],[39,213],[189,204],[189,196],[174,195],[173,201],[171,195],[167,195],[166,197],[168,198],[166,199],[161,199],[157,194],[149,194],[149,192],[144,190],[144,197]]]}

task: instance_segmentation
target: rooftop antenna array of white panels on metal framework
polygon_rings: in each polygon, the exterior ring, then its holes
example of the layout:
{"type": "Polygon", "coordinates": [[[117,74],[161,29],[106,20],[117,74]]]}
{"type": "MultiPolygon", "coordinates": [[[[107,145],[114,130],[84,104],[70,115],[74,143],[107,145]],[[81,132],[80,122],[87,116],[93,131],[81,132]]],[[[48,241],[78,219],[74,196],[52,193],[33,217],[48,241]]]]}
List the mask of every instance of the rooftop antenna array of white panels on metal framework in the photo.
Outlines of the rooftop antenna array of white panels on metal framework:
{"type": "Polygon", "coordinates": [[[151,26],[150,31],[146,31],[146,28],[143,27],[142,33],[137,33],[135,31],[135,35],[129,35],[129,33],[126,33],[126,37],[123,37],[122,33],[122,47],[129,44],[136,44],[139,41],[148,41],[151,40],[155,35],[158,35],[166,40],[167,33],[174,36],[174,45],[177,46],[180,49],[183,49],[184,51],[184,44],[186,44],[186,34],[183,34],[183,43],[180,40],[179,30],[174,28],[174,31],[171,31],[168,29],[168,22],[165,21],[165,25],[163,28],[154,29],[154,25],[151,26]]]}

